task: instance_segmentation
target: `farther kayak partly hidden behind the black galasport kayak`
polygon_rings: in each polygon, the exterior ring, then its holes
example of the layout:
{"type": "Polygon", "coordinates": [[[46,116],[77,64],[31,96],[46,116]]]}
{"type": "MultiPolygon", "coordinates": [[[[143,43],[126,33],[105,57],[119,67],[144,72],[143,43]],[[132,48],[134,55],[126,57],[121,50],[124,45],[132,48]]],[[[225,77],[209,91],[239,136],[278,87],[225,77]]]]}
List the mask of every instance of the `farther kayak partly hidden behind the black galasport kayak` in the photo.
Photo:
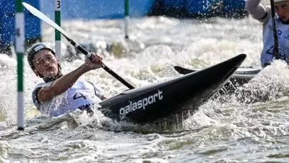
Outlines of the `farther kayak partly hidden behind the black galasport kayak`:
{"type": "MultiPolygon", "coordinates": [[[[179,74],[189,74],[191,72],[197,72],[201,69],[188,69],[180,66],[174,66],[174,69],[179,72],[179,74]]],[[[242,86],[248,83],[251,79],[256,77],[256,75],[261,71],[261,69],[253,67],[239,67],[236,72],[232,75],[229,81],[224,85],[225,91],[220,91],[223,93],[232,93],[238,86],[242,86]]],[[[222,89],[223,90],[223,89],[222,89]]]]}

